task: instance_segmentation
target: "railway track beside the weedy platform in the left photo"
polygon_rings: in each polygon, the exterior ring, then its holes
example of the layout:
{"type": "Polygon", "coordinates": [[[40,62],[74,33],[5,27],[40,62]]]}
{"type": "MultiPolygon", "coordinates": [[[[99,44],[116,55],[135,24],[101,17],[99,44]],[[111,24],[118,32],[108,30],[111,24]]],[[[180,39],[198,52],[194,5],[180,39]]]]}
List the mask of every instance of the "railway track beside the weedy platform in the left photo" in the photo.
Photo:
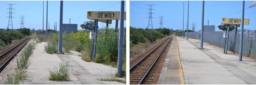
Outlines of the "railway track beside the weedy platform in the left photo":
{"type": "Polygon", "coordinates": [[[12,61],[12,59],[18,54],[20,50],[28,43],[28,41],[33,37],[31,35],[22,41],[12,45],[11,47],[1,51],[0,53],[0,73],[4,68],[12,61]]]}

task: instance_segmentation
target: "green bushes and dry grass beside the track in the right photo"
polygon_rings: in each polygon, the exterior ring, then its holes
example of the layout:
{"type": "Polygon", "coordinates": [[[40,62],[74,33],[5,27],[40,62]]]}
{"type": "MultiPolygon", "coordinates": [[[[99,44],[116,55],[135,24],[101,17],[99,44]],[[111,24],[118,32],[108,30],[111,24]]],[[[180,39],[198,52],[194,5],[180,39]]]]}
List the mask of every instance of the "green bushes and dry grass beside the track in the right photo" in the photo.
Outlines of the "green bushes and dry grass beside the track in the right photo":
{"type": "Polygon", "coordinates": [[[142,28],[130,27],[130,59],[152,47],[162,38],[172,35],[170,29],[159,28],[155,30],[147,30],[142,28]]]}

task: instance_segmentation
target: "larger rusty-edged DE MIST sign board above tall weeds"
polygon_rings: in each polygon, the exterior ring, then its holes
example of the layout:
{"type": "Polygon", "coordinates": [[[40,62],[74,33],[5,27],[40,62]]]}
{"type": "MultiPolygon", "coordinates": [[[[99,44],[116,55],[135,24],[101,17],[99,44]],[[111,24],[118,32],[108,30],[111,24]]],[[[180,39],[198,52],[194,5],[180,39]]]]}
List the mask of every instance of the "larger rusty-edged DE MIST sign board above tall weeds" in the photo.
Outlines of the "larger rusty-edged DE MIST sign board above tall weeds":
{"type": "MultiPolygon", "coordinates": [[[[118,11],[88,11],[87,18],[90,20],[120,20],[120,12],[118,11]]],[[[124,13],[126,20],[126,12],[124,13]]]]}

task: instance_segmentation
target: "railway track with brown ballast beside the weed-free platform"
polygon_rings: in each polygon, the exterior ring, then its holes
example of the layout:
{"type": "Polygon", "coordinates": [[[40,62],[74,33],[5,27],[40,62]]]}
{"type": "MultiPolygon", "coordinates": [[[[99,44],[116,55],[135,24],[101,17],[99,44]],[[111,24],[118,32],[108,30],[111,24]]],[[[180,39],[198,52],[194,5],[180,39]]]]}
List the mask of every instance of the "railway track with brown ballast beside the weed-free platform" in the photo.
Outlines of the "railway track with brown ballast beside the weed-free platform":
{"type": "Polygon", "coordinates": [[[130,84],[154,84],[158,80],[157,75],[159,69],[161,70],[163,62],[166,57],[163,57],[163,51],[168,51],[167,46],[172,40],[173,35],[160,43],[149,54],[138,60],[137,63],[130,64],[130,84]]]}

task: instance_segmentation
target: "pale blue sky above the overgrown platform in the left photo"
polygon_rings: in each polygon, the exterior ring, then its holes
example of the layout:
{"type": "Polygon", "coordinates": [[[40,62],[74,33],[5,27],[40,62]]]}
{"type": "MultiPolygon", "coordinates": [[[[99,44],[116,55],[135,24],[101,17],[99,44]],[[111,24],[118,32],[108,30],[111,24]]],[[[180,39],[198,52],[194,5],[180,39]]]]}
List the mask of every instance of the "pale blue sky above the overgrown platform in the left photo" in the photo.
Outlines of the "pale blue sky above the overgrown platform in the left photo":
{"type": "MultiPolygon", "coordinates": [[[[43,1],[0,1],[0,28],[7,28],[9,5],[14,8],[13,12],[13,28],[20,28],[20,16],[24,15],[24,26],[26,28],[42,29],[43,26],[43,1]]],[[[77,24],[78,29],[81,24],[87,19],[87,11],[120,11],[121,1],[63,1],[63,23],[69,23],[71,18],[71,24],[77,24]]],[[[125,1],[126,11],[126,1],[125,1]]],[[[54,29],[54,22],[57,22],[57,30],[59,30],[59,12],[60,1],[48,1],[48,22],[50,22],[50,29],[54,29]]],[[[124,21],[126,23],[126,21],[124,21]]],[[[118,27],[120,26],[118,22],[118,27]]],[[[101,28],[102,23],[99,22],[98,26],[101,28]]],[[[103,26],[106,26],[103,23],[103,26]]],[[[112,20],[112,24],[109,24],[111,28],[115,27],[115,20],[112,20]]],[[[124,24],[126,26],[126,24],[124,24]]],[[[9,27],[11,28],[11,27],[9,27]]],[[[44,1],[44,30],[46,28],[46,1],[44,1]]]]}

